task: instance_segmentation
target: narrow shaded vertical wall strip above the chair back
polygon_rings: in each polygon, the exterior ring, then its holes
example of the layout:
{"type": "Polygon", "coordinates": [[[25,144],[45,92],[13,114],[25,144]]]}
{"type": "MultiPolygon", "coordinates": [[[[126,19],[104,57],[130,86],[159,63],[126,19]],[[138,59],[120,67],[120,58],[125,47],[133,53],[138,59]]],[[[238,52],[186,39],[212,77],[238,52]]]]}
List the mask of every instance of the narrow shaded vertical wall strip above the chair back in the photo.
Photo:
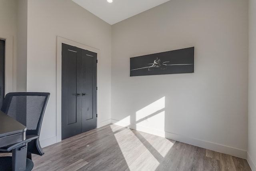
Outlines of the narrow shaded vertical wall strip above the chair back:
{"type": "Polygon", "coordinates": [[[28,0],[17,0],[17,72],[16,91],[26,92],[27,85],[28,0]]]}

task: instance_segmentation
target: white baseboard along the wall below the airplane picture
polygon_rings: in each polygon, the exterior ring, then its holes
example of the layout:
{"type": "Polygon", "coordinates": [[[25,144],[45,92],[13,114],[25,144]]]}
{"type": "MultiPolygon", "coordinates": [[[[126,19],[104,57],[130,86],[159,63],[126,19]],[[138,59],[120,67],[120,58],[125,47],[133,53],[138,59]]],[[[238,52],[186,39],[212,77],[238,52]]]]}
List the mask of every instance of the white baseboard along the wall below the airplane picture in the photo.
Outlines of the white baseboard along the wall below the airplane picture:
{"type": "Polygon", "coordinates": [[[138,130],[138,131],[150,133],[150,134],[157,135],[157,136],[160,136],[160,137],[165,137],[165,138],[172,139],[172,140],[175,140],[175,141],[180,141],[182,143],[195,145],[197,147],[202,147],[202,148],[210,149],[210,150],[217,151],[217,152],[220,152],[220,153],[225,153],[225,154],[228,154],[228,155],[240,157],[240,158],[243,158],[243,159],[247,158],[247,151],[243,150],[243,149],[238,149],[238,148],[235,148],[235,147],[230,147],[230,146],[226,146],[226,145],[222,145],[222,144],[212,143],[212,142],[204,141],[204,140],[201,140],[201,139],[186,137],[186,136],[183,136],[183,135],[180,135],[180,134],[175,134],[175,133],[171,133],[171,132],[167,132],[167,131],[156,130],[156,129],[152,129],[152,128],[149,128],[149,127],[143,127],[143,126],[140,126],[140,125],[125,123],[125,122],[118,121],[118,120],[115,120],[115,119],[111,119],[111,123],[113,123],[115,125],[120,125],[120,126],[123,126],[123,127],[128,127],[128,128],[131,128],[131,129],[135,129],[135,130],[138,130]]]}

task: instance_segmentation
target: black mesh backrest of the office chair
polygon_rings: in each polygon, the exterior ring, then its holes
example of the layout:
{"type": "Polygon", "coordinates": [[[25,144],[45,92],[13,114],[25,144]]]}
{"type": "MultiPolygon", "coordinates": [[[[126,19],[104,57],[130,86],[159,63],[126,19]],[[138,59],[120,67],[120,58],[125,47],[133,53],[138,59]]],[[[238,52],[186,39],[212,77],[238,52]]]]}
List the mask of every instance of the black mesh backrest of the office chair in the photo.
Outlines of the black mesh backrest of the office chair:
{"type": "Polygon", "coordinates": [[[50,93],[8,93],[1,110],[25,125],[26,135],[39,135],[49,96],[50,93]]]}

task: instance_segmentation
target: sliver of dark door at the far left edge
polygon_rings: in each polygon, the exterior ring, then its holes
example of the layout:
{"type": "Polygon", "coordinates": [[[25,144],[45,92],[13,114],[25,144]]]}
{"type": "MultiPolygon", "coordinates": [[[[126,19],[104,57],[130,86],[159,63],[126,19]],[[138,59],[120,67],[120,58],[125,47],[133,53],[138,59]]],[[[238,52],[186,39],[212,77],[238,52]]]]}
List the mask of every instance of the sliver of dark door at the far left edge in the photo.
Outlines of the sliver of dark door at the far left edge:
{"type": "Polygon", "coordinates": [[[5,56],[5,41],[0,40],[0,107],[4,101],[4,56],[5,56]]]}

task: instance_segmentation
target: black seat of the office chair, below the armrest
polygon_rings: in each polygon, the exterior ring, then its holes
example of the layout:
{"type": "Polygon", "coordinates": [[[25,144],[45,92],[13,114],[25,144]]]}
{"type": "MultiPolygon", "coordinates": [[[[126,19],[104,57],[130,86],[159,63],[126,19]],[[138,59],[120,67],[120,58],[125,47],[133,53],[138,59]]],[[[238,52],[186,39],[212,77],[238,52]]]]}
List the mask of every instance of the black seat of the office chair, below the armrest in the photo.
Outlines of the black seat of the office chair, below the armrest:
{"type": "MultiPolygon", "coordinates": [[[[34,163],[32,160],[27,158],[26,161],[26,170],[31,171],[34,167],[34,163]]],[[[0,157],[0,171],[12,171],[12,157],[0,157]]]]}

